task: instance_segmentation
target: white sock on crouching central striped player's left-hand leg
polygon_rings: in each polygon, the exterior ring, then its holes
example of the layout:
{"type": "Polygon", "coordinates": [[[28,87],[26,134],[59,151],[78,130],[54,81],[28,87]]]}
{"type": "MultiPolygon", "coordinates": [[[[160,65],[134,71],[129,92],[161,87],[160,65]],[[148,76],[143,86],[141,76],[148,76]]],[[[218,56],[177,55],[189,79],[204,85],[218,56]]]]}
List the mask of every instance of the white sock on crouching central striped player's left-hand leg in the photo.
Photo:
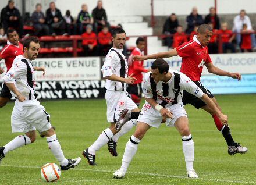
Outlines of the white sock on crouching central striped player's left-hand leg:
{"type": "Polygon", "coordinates": [[[140,140],[134,136],[130,137],[130,140],[126,143],[125,153],[123,154],[122,166],[120,170],[124,172],[127,171],[128,166],[130,165],[131,159],[136,154],[138,144],[140,140]]]}

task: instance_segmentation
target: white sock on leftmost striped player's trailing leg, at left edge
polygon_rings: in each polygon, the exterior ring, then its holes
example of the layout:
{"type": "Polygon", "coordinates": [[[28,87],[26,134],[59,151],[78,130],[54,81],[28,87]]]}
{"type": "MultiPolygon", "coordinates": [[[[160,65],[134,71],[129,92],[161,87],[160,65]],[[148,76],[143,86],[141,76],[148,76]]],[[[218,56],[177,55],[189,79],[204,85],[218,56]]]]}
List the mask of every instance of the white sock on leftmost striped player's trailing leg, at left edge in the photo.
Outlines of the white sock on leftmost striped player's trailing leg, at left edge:
{"type": "Polygon", "coordinates": [[[31,140],[29,137],[27,137],[27,135],[24,134],[24,135],[17,136],[4,146],[5,150],[3,150],[3,154],[7,154],[9,151],[15,150],[16,148],[19,148],[28,144],[31,144],[31,140]]]}

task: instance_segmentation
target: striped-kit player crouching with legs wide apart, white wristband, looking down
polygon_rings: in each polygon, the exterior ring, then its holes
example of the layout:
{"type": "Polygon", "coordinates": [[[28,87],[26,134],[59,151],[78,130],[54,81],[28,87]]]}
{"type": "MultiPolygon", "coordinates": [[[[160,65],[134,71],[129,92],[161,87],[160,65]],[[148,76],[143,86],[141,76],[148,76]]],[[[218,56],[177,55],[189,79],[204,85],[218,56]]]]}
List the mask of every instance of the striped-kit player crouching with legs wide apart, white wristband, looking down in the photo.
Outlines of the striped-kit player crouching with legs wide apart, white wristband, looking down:
{"type": "Polygon", "coordinates": [[[167,126],[175,126],[182,136],[183,153],[186,162],[187,177],[198,178],[193,168],[194,142],[189,129],[189,120],[182,103],[182,91],[195,95],[216,113],[223,124],[227,116],[223,115],[213,101],[185,74],[169,69],[168,63],[157,59],[152,63],[151,72],[143,79],[143,94],[146,103],[138,117],[136,131],[126,144],[122,166],[113,173],[115,179],[122,179],[136,154],[138,144],[150,127],[159,127],[165,117],[167,126]]]}

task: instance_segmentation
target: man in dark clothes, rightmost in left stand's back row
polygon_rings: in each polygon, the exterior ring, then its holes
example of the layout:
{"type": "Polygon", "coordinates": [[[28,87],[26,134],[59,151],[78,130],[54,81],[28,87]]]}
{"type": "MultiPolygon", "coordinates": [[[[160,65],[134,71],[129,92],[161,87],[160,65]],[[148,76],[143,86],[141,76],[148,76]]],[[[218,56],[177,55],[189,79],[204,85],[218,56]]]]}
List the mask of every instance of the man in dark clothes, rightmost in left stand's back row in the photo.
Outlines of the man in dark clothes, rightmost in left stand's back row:
{"type": "Polygon", "coordinates": [[[102,29],[102,26],[107,26],[111,30],[110,24],[108,23],[108,17],[106,16],[106,11],[102,8],[102,1],[97,2],[97,7],[93,9],[93,26],[94,32],[98,34],[98,29],[102,29]]]}

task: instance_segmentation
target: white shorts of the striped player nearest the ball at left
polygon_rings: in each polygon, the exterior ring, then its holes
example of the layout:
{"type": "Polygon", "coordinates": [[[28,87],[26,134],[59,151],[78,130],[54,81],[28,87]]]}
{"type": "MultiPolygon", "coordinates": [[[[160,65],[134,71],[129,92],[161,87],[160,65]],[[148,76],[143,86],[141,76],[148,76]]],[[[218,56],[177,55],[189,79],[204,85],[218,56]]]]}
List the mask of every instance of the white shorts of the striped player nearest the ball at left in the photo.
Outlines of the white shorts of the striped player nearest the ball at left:
{"type": "Polygon", "coordinates": [[[50,115],[37,99],[24,102],[16,100],[11,116],[12,132],[47,131],[52,127],[49,118],[50,115]]]}

